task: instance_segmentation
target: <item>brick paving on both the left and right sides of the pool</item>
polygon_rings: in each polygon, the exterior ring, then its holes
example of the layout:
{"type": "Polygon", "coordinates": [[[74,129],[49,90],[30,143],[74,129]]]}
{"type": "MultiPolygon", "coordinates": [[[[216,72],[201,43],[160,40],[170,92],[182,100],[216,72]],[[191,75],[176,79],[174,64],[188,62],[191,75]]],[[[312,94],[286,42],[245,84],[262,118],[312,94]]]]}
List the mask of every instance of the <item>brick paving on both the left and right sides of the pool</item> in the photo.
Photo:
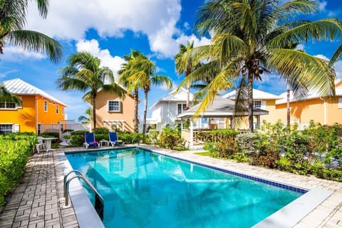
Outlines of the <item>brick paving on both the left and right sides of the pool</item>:
{"type": "MultiPolygon", "coordinates": [[[[68,150],[83,150],[73,148],[68,150]]],[[[160,153],[207,165],[244,172],[291,185],[322,188],[333,194],[296,224],[296,228],[342,227],[342,183],[268,170],[228,160],[153,148],[160,153]]],[[[70,202],[71,203],[71,202],[70,202]]],[[[64,207],[63,172],[58,151],[34,154],[26,165],[21,184],[0,214],[0,228],[79,227],[73,207],[64,207]]]]}

